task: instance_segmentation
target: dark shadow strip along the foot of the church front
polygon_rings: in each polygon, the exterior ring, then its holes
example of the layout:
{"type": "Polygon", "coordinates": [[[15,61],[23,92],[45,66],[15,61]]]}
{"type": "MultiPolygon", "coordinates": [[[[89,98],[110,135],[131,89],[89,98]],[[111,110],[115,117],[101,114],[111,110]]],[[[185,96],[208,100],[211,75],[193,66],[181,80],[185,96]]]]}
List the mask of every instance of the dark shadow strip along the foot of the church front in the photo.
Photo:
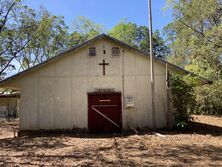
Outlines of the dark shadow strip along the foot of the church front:
{"type": "MultiPolygon", "coordinates": [[[[153,134],[153,131],[150,129],[138,129],[138,135],[153,134]]],[[[212,136],[221,136],[222,127],[209,125],[200,122],[189,122],[189,127],[185,130],[168,130],[168,129],[159,129],[157,132],[161,132],[166,135],[176,135],[176,134],[201,134],[201,135],[212,135],[212,136]]],[[[113,138],[113,137],[127,137],[134,135],[135,132],[131,130],[123,131],[122,133],[100,133],[93,134],[88,133],[87,131],[72,131],[72,130],[52,130],[52,131],[24,131],[22,136],[28,137],[58,137],[58,136],[67,136],[67,137],[79,137],[79,138],[113,138]]]]}

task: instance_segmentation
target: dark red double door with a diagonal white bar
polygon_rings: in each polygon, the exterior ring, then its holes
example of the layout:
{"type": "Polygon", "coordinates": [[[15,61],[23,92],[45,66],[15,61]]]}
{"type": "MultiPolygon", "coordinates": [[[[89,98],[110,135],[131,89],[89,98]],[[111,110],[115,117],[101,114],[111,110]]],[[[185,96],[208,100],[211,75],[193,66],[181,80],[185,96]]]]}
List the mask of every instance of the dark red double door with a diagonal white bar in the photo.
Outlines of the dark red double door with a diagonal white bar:
{"type": "Polygon", "coordinates": [[[122,130],[121,93],[88,94],[88,128],[91,133],[122,130]]]}

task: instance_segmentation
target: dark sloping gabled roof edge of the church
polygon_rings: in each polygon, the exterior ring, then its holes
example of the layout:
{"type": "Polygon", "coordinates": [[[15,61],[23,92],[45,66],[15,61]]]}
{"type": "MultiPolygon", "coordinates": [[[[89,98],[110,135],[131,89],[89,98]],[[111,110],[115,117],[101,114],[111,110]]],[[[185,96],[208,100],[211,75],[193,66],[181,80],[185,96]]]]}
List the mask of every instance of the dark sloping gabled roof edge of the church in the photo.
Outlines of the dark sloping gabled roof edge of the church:
{"type": "MultiPolygon", "coordinates": [[[[141,50],[139,50],[139,49],[137,49],[137,48],[135,48],[135,47],[132,47],[132,46],[130,46],[130,45],[128,45],[128,44],[126,44],[126,43],[124,43],[124,42],[122,42],[122,41],[120,41],[120,40],[118,40],[118,39],[116,39],[116,38],[113,38],[113,37],[111,37],[111,36],[109,36],[109,35],[101,34],[101,35],[98,35],[98,36],[96,36],[95,38],[92,38],[92,39],[90,39],[90,40],[88,40],[88,41],[86,41],[86,42],[84,42],[84,43],[82,43],[82,44],[80,44],[80,45],[78,45],[78,46],[76,46],[76,47],[70,48],[70,49],[67,50],[67,51],[64,51],[64,52],[62,52],[62,53],[59,53],[58,55],[56,55],[56,56],[54,56],[54,57],[52,57],[52,58],[50,58],[50,59],[48,59],[48,60],[46,60],[46,61],[44,61],[44,62],[42,62],[42,63],[39,63],[39,64],[37,64],[37,65],[29,68],[29,69],[26,69],[26,70],[24,70],[24,71],[22,71],[22,72],[19,72],[19,73],[15,74],[15,75],[12,75],[12,76],[10,76],[10,77],[8,77],[8,78],[0,81],[0,85],[2,85],[3,83],[8,82],[8,81],[10,81],[10,80],[14,80],[14,79],[16,79],[17,77],[22,76],[22,75],[24,75],[24,74],[26,74],[26,73],[28,73],[28,72],[31,72],[31,71],[33,71],[33,70],[35,70],[35,69],[37,69],[37,68],[40,68],[40,67],[42,67],[42,66],[44,66],[44,65],[46,65],[46,64],[48,64],[48,63],[50,63],[50,62],[53,62],[53,61],[59,59],[60,57],[64,56],[66,53],[70,53],[70,52],[72,52],[72,51],[76,51],[76,50],[78,50],[78,49],[81,49],[81,48],[83,48],[83,47],[85,47],[85,46],[88,46],[88,45],[92,44],[92,43],[95,42],[96,40],[99,40],[99,39],[102,39],[102,38],[103,38],[103,39],[108,39],[108,40],[113,41],[113,42],[116,42],[116,43],[119,43],[119,45],[122,46],[122,47],[125,47],[125,48],[127,48],[127,49],[129,49],[129,50],[132,50],[132,51],[134,51],[134,52],[136,52],[136,53],[138,53],[138,54],[140,54],[140,55],[142,55],[142,56],[149,57],[149,54],[148,54],[148,53],[145,53],[145,52],[143,52],[143,51],[141,51],[141,50]]],[[[203,82],[204,84],[212,83],[212,81],[210,81],[210,80],[208,80],[208,79],[206,79],[206,78],[203,78],[203,77],[201,77],[201,76],[199,76],[199,75],[196,75],[196,74],[194,74],[194,73],[192,73],[192,72],[190,72],[190,71],[187,71],[187,70],[185,70],[185,69],[183,69],[183,68],[181,68],[181,67],[179,67],[179,66],[177,66],[177,65],[174,65],[174,64],[172,64],[172,63],[170,63],[170,62],[167,62],[167,61],[165,61],[165,60],[162,60],[162,59],[160,59],[160,58],[155,57],[155,61],[157,61],[157,62],[159,62],[159,63],[162,63],[162,64],[168,64],[168,67],[169,67],[169,68],[174,69],[174,70],[176,70],[176,71],[178,71],[178,72],[181,72],[181,73],[183,73],[183,74],[188,74],[188,75],[194,76],[194,77],[198,78],[198,79],[199,79],[201,82],[203,82]]]]}

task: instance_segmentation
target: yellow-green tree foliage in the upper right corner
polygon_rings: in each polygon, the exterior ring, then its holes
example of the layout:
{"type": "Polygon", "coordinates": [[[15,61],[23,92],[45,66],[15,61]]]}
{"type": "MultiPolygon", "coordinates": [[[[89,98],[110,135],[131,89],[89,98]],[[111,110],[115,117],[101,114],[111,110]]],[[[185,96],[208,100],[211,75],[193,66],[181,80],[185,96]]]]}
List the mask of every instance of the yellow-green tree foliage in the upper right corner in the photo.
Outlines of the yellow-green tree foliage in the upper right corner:
{"type": "MultiPolygon", "coordinates": [[[[174,20],[165,27],[171,42],[170,60],[186,66],[198,63],[201,71],[208,67],[222,76],[221,4],[219,0],[170,1],[174,20]]],[[[207,76],[206,76],[207,77],[207,76]]]]}

